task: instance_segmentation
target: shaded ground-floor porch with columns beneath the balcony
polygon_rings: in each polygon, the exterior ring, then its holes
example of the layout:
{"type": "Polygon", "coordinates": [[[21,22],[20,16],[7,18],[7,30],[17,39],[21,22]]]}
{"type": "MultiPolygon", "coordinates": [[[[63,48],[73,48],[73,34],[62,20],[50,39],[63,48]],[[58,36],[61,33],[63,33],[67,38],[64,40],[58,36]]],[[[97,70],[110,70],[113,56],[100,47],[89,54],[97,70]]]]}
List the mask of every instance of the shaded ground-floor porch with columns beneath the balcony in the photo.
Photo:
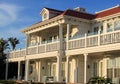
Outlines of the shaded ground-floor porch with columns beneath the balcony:
{"type": "MultiPolygon", "coordinates": [[[[19,61],[14,69],[17,70],[17,80],[83,84],[91,77],[99,76],[110,78],[112,82],[119,84],[119,61],[119,51],[109,51],[63,56],[61,62],[57,56],[19,61]]],[[[10,69],[12,68],[8,68],[8,73],[10,69]]]]}

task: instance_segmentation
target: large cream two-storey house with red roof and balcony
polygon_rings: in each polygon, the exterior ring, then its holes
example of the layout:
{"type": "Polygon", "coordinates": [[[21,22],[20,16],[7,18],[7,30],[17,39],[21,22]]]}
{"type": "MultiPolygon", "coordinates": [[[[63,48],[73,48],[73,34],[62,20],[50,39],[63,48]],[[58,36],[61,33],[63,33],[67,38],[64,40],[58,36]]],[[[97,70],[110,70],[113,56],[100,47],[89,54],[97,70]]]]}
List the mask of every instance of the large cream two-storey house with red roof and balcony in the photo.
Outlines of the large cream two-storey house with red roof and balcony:
{"type": "Polygon", "coordinates": [[[17,64],[18,80],[87,83],[100,76],[119,83],[119,5],[95,14],[45,7],[40,15],[41,22],[22,30],[26,48],[8,55],[8,63],[17,64]]]}

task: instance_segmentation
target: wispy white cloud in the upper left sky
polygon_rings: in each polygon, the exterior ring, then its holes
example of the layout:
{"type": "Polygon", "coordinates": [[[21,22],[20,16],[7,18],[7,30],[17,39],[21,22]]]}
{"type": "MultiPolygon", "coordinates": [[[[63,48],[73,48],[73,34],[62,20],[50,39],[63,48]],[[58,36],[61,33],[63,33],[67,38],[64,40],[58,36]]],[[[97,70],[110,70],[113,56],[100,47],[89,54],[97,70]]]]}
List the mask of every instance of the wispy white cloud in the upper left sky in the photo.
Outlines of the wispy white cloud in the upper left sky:
{"type": "Polygon", "coordinates": [[[21,7],[14,4],[0,4],[0,26],[6,26],[17,19],[21,7]]]}

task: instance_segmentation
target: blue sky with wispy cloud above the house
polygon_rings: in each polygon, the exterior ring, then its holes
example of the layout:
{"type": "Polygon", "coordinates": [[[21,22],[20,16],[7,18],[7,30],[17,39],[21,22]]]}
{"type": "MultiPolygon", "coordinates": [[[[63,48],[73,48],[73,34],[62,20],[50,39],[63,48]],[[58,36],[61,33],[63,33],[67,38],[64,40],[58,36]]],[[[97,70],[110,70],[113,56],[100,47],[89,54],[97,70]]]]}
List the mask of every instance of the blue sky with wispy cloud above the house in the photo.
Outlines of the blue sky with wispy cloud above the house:
{"type": "Polygon", "coordinates": [[[0,0],[0,38],[16,37],[17,48],[25,48],[25,34],[20,31],[41,21],[40,11],[44,7],[66,10],[86,8],[95,13],[116,5],[120,0],[0,0]]]}

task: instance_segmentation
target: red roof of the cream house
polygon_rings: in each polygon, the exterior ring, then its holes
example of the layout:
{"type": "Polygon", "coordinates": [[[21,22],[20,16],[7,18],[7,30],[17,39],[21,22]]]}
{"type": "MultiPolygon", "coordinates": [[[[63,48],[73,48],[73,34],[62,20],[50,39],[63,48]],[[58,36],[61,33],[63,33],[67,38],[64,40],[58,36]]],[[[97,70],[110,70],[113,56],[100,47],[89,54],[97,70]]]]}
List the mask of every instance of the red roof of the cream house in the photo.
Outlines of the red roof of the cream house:
{"type": "MultiPolygon", "coordinates": [[[[61,10],[56,10],[56,9],[52,9],[52,8],[47,8],[47,7],[45,7],[45,8],[48,9],[49,11],[53,11],[53,12],[56,13],[56,16],[54,16],[52,18],[55,18],[59,15],[67,15],[67,16],[78,17],[78,18],[87,19],[87,20],[93,20],[93,19],[113,15],[113,14],[116,14],[116,13],[120,13],[120,6],[115,6],[115,7],[100,11],[96,14],[89,14],[89,13],[86,13],[86,12],[85,13],[84,12],[78,12],[78,11],[71,10],[71,9],[61,11],[61,10]]],[[[51,19],[51,18],[49,18],[49,19],[51,19]]],[[[36,24],[39,24],[39,23],[41,23],[41,21],[38,22],[38,23],[35,23],[33,25],[36,25],[36,24]]],[[[31,26],[33,26],[33,25],[31,25],[31,26]]]]}

